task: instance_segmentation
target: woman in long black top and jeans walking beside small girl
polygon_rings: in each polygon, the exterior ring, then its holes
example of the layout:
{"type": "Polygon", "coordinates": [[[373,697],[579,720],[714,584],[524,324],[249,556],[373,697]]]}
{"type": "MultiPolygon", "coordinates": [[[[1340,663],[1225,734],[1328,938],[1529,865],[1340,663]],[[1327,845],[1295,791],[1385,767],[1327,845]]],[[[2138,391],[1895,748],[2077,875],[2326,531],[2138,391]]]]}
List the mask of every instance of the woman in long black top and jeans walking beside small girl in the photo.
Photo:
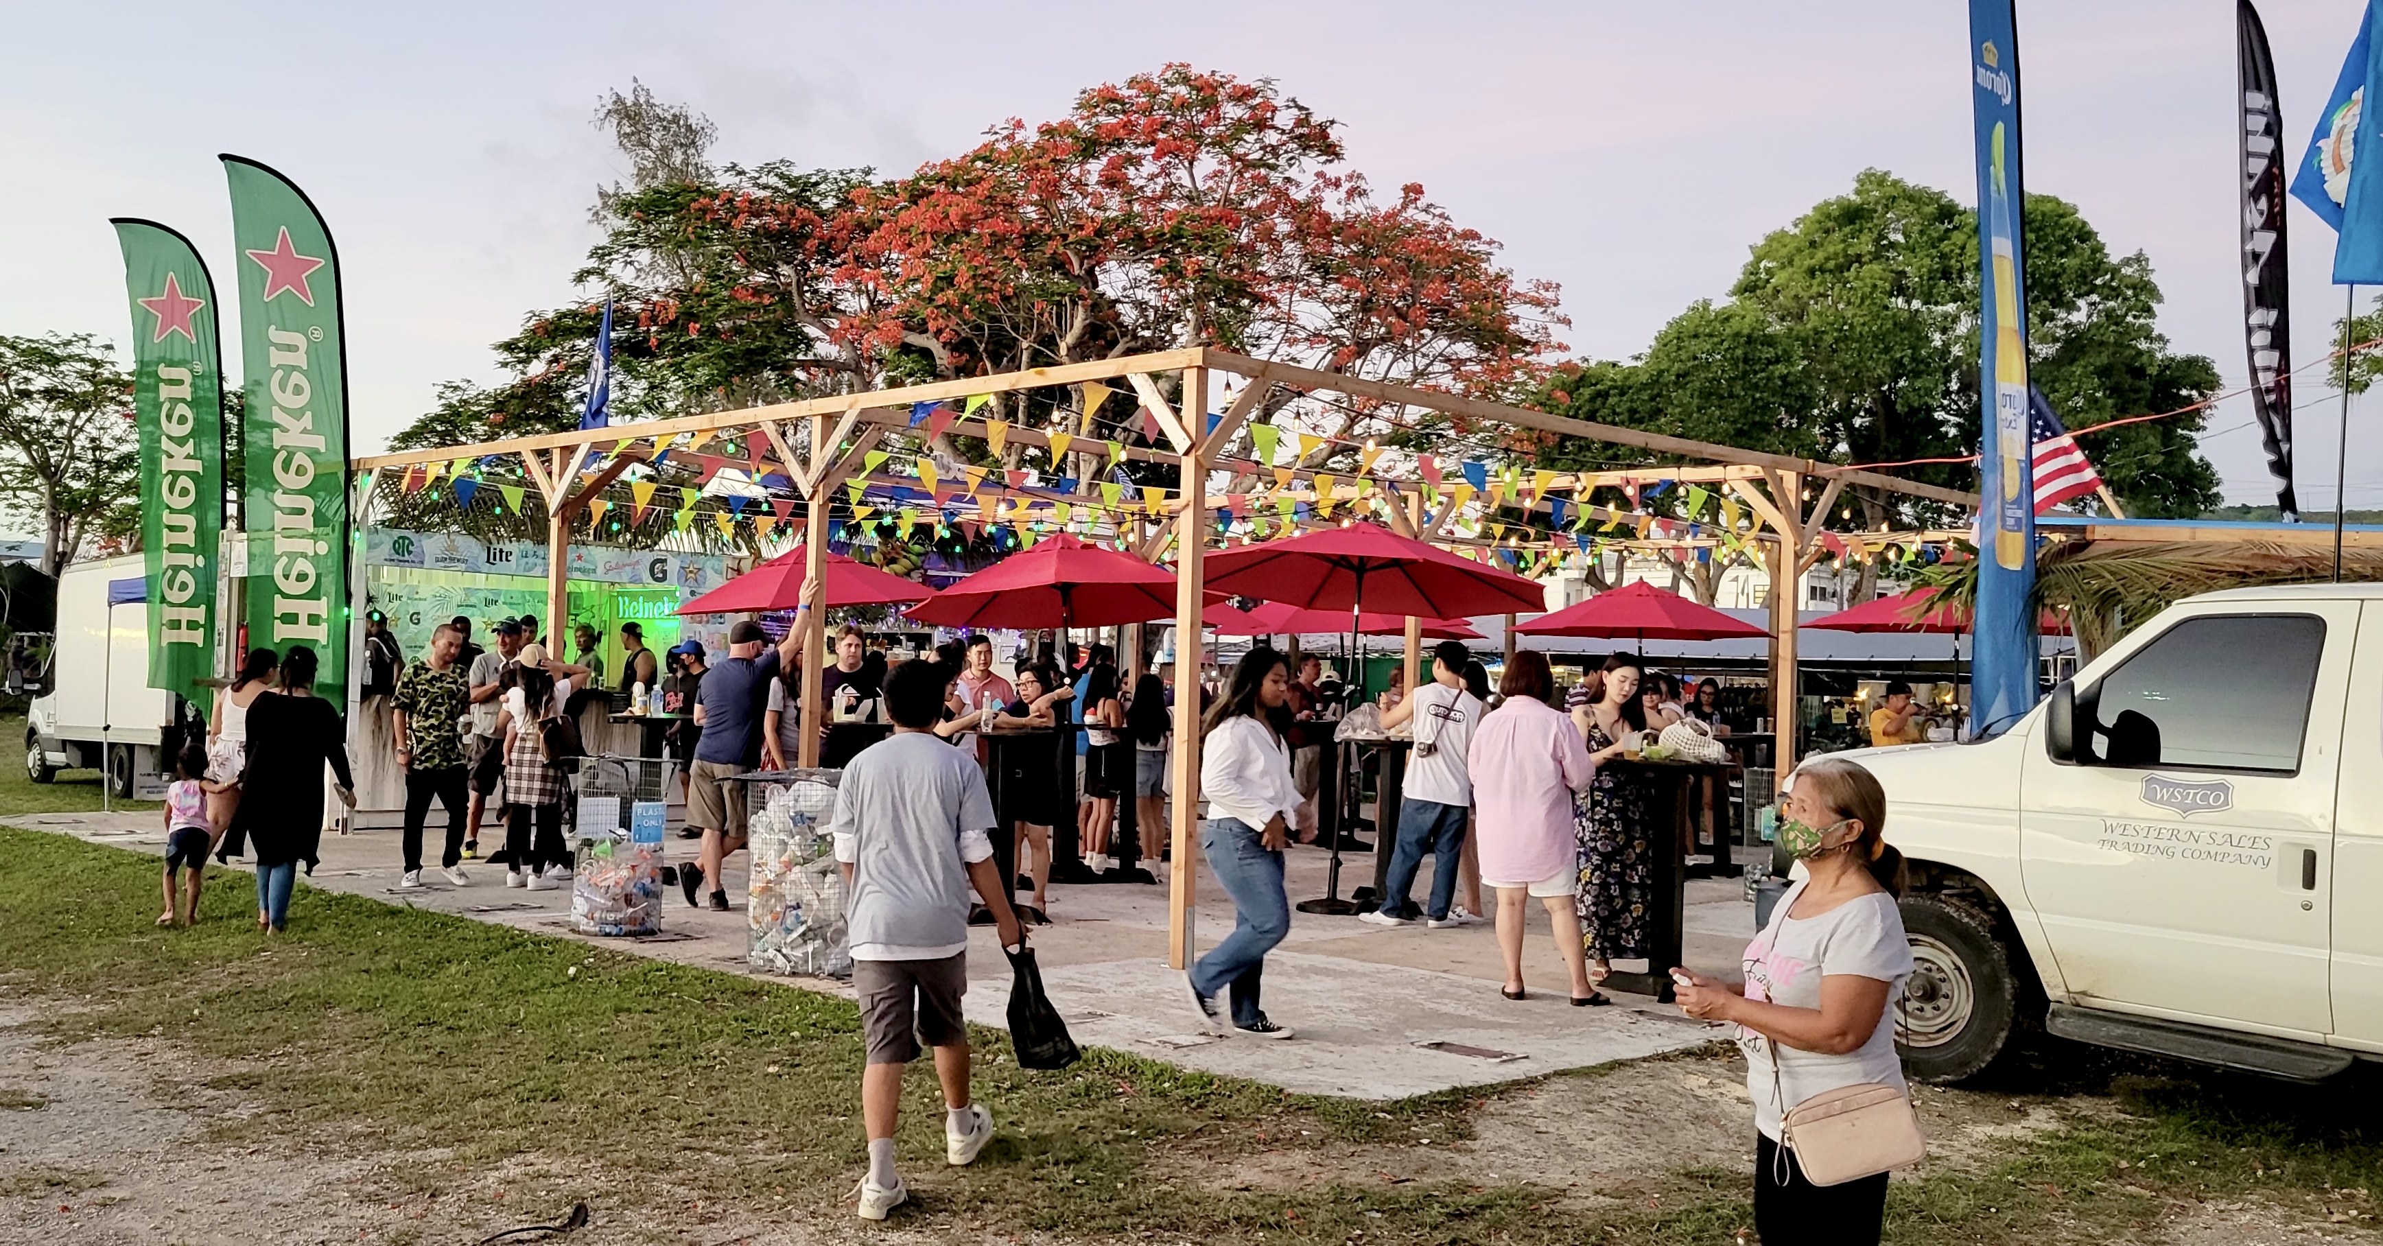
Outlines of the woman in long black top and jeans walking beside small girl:
{"type": "Polygon", "coordinates": [[[322,858],[326,762],[338,777],[338,798],[355,808],[348,724],[315,696],[315,650],[298,646],[281,660],[281,689],[248,703],[248,770],[236,817],[257,860],[257,929],[288,927],[298,865],[312,874],[322,858]]]}

